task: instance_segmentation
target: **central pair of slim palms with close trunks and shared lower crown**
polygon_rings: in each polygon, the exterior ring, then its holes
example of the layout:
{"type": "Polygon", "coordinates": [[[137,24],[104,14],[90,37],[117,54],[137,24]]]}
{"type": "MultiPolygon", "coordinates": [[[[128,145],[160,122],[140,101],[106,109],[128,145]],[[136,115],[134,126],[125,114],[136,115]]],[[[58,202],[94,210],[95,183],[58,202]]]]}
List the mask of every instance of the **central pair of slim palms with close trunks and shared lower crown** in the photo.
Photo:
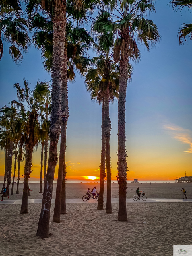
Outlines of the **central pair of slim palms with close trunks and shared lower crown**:
{"type": "Polygon", "coordinates": [[[102,51],[102,55],[96,57],[96,68],[90,68],[86,74],[87,90],[91,93],[91,99],[102,104],[102,146],[100,166],[100,191],[98,210],[103,210],[103,193],[105,180],[105,160],[107,169],[107,204],[106,213],[112,213],[111,208],[111,163],[110,163],[110,130],[109,102],[118,98],[119,67],[113,60],[110,51],[102,51]],[[107,69],[107,70],[106,70],[107,69]]]}

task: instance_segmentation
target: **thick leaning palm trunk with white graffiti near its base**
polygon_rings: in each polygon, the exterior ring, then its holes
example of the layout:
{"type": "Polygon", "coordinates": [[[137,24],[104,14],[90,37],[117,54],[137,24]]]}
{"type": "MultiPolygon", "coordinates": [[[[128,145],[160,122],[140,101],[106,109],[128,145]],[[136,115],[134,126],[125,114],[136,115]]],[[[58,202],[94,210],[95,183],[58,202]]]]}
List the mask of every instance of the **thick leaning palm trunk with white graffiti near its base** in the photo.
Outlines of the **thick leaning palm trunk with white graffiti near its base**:
{"type": "Polygon", "coordinates": [[[52,65],[52,109],[50,126],[50,147],[46,184],[43,193],[41,214],[38,223],[36,236],[47,238],[49,236],[50,208],[53,192],[53,180],[55,166],[57,164],[57,144],[60,135],[61,122],[61,64],[60,53],[65,48],[65,27],[66,27],[66,1],[60,3],[60,8],[55,7],[53,17],[53,65],[52,65]]]}

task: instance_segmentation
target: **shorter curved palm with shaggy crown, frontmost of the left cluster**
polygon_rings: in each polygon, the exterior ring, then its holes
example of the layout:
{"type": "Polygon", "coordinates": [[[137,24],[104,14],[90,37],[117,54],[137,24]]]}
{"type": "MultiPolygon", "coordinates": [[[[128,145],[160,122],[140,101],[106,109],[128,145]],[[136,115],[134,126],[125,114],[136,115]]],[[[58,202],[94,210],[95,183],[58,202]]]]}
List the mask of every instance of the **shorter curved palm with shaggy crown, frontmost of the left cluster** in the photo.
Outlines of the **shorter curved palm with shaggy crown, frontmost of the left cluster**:
{"type": "Polygon", "coordinates": [[[24,80],[24,88],[18,83],[13,85],[17,90],[18,101],[13,100],[12,104],[18,108],[18,115],[26,120],[23,136],[25,141],[25,166],[24,166],[24,187],[22,196],[22,205],[20,213],[28,213],[28,181],[32,173],[32,154],[34,147],[38,143],[39,134],[42,132],[40,119],[44,118],[42,100],[49,88],[48,82],[37,82],[33,91],[28,87],[28,83],[24,80]],[[23,104],[24,103],[24,104],[23,104]],[[25,107],[27,105],[27,109],[25,107]]]}

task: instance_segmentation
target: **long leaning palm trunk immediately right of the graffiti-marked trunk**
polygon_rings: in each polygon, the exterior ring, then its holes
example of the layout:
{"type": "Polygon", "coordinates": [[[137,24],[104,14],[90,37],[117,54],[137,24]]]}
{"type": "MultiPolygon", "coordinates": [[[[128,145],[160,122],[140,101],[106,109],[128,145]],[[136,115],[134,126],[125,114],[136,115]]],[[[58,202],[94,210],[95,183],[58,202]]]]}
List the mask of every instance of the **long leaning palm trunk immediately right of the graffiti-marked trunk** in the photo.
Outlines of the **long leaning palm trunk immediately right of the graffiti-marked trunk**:
{"type": "MultiPolygon", "coordinates": [[[[67,91],[67,50],[66,47],[62,52],[63,65],[61,69],[61,115],[62,115],[62,124],[61,124],[61,144],[60,144],[60,153],[59,153],[59,170],[58,170],[58,179],[57,179],[57,189],[55,197],[55,208],[53,214],[53,221],[60,222],[61,214],[61,191],[63,185],[63,166],[65,162],[65,151],[66,151],[66,131],[67,131],[67,119],[69,116],[68,110],[68,91],[67,91]]],[[[64,189],[64,188],[63,188],[64,189]]],[[[63,203],[63,202],[62,202],[63,203]]]]}

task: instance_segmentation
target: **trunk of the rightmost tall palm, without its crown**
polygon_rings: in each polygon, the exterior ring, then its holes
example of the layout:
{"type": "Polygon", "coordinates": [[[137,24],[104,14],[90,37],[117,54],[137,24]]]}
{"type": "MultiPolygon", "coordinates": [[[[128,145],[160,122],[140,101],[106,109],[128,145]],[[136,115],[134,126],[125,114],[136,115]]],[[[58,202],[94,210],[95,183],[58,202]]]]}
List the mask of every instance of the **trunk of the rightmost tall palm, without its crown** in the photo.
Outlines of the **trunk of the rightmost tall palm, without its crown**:
{"type": "Polygon", "coordinates": [[[128,76],[128,55],[125,52],[120,61],[119,102],[118,102],[118,183],[119,183],[119,212],[118,220],[127,220],[127,153],[125,148],[125,102],[128,76]]]}

